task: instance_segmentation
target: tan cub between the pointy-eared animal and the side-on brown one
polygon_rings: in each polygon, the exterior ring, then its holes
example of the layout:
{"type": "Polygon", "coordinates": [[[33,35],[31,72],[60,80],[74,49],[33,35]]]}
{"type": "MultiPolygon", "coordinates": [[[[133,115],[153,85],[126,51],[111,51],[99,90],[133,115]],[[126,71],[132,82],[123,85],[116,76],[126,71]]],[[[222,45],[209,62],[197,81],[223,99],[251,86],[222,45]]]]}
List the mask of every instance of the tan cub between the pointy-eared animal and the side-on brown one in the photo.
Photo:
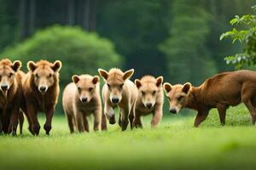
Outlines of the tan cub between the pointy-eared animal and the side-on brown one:
{"type": "Polygon", "coordinates": [[[151,127],[156,127],[163,116],[164,91],[162,87],[163,77],[154,78],[144,76],[141,80],[136,79],[138,95],[135,102],[134,126],[143,127],[141,116],[153,113],[151,127]]]}

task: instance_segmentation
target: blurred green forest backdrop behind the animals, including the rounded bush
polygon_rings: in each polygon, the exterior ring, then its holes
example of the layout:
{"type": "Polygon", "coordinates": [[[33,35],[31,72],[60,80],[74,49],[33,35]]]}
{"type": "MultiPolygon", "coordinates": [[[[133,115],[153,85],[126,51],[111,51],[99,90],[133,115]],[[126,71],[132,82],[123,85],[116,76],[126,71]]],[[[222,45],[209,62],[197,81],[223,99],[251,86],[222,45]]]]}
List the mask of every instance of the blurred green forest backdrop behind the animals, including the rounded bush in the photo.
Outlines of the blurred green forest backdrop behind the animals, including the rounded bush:
{"type": "Polygon", "coordinates": [[[61,87],[73,74],[97,68],[135,69],[132,79],[199,85],[233,70],[224,57],[239,53],[219,41],[236,14],[255,0],[0,0],[0,58],[60,59],[61,87]]]}

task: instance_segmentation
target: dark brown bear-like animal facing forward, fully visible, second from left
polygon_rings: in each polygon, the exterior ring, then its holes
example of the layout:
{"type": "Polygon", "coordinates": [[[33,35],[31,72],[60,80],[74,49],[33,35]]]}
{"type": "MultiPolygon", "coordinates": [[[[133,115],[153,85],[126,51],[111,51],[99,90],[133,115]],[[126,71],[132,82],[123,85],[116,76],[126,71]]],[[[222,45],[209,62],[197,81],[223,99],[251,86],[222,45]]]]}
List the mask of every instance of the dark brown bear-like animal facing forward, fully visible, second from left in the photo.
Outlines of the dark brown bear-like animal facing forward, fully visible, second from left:
{"type": "Polygon", "coordinates": [[[55,112],[55,105],[60,93],[59,71],[61,61],[50,63],[40,60],[37,63],[27,63],[28,72],[22,79],[23,94],[26,100],[26,116],[29,122],[29,130],[38,135],[40,125],[38,111],[45,112],[46,122],[44,130],[49,134],[51,121],[55,112]]]}

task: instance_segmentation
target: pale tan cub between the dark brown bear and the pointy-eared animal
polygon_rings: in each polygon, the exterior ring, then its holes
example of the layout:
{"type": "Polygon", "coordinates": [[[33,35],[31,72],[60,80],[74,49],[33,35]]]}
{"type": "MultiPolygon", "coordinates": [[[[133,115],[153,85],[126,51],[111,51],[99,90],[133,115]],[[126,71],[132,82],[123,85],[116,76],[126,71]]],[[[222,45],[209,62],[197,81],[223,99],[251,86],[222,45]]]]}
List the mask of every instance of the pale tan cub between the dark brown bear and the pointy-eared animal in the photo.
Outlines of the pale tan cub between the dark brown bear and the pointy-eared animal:
{"type": "Polygon", "coordinates": [[[73,82],[67,84],[62,95],[62,105],[70,133],[74,132],[73,127],[76,127],[79,132],[89,132],[87,116],[90,114],[94,116],[94,130],[99,130],[102,121],[99,77],[84,74],[74,75],[72,79],[73,82]]]}

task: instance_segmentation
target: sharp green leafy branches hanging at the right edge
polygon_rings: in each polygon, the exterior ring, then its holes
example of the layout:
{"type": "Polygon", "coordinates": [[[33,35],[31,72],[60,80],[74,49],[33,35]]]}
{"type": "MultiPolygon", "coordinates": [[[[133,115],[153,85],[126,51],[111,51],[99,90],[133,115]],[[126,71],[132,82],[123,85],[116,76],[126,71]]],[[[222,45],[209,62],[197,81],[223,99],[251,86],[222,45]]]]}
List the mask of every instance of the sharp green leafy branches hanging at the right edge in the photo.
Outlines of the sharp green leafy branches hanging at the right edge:
{"type": "MultiPolygon", "coordinates": [[[[256,5],[253,6],[256,11],[256,5]]],[[[245,14],[241,17],[236,15],[230,20],[230,25],[234,26],[231,31],[226,31],[220,36],[220,40],[229,37],[232,43],[240,42],[242,52],[225,57],[227,64],[236,65],[240,69],[243,65],[256,64],[256,15],[245,14]]]]}

